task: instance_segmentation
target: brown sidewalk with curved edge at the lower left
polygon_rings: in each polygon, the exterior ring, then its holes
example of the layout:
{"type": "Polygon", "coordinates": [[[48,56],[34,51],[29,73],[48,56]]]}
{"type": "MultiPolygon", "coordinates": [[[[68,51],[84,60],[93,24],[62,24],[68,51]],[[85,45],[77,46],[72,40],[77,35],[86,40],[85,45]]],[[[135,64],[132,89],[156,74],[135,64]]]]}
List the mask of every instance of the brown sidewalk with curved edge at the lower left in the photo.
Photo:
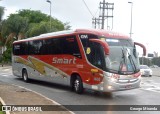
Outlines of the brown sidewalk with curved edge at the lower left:
{"type": "MultiPolygon", "coordinates": [[[[0,72],[4,69],[11,68],[10,66],[0,67],[0,72]]],[[[25,89],[23,87],[18,87],[15,85],[11,85],[5,82],[0,81],[0,102],[3,105],[60,105],[43,95],[40,95],[31,90],[25,89]]],[[[73,112],[68,111],[63,106],[57,106],[55,110],[63,110],[63,111],[42,111],[42,112],[20,112],[20,111],[12,111],[10,114],[73,114],[73,112]],[[58,108],[58,109],[57,109],[58,108]]],[[[6,114],[9,114],[6,113],[6,114]]]]}

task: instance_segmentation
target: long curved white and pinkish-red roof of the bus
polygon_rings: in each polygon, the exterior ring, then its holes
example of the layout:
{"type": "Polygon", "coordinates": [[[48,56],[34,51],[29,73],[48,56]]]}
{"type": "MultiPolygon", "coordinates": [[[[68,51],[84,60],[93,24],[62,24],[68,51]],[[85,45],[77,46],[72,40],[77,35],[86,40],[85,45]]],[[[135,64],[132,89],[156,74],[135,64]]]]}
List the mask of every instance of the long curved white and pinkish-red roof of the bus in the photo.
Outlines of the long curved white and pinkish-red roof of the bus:
{"type": "Polygon", "coordinates": [[[14,43],[21,42],[21,41],[36,40],[41,38],[49,38],[52,36],[69,35],[69,34],[94,34],[94,35],[108,37],[108,38],[130,39],[129,36],[126,36],[117,32],[113,32],[113,31],[103,30],[103,29],[75,29],[75,30],[64,30],[64,31],[41,34],[39,36],[18,40],[18,41],[15,41],[14,43]]]}

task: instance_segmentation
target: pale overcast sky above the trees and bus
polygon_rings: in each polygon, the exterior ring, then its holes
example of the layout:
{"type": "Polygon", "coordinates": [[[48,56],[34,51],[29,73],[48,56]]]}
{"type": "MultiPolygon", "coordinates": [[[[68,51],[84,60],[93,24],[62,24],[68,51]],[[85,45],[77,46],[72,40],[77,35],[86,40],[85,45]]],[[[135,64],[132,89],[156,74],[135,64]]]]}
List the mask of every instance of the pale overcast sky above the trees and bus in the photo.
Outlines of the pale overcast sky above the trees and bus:
{"type": "MultiPolygon", "coordinates": [[[[64,23],[69,22],[72,29],[76,29],[93,28],[92,18],[99,16],[99,3],[103,0],[84,0],[93,16],[83,0],[50,1],[52,17],[64,23]]],[[[156,51],[160,55],[160,0],[106,0],[106,2],[114,3],[112,31],[126,35],[129,35],[131,25],[131,4],[128,2],[132,2],[132,39],[143,43],[149,53],[156,51]]],[[[50,14],[50,4],[46,0],[1,0],[0,6],[5,7],[4,19],[20,9],[40,10],[42,13],[50,14]]]]}

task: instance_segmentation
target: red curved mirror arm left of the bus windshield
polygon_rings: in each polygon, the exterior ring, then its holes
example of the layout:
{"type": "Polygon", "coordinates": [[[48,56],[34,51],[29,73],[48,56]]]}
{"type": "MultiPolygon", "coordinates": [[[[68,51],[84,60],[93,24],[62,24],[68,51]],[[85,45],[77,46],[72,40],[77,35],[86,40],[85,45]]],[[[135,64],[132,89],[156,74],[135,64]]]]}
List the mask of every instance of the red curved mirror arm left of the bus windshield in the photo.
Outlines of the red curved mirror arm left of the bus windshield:
{"type": "Polygon", "coordinates": [[[101,44],[101,46],[104,48],[105,54],[109,55],[109,46],[108,46],[107,42],[105,42],[103,40],[99,40],[99,39],[89,39],[89,41],[97,42],[97,43],[101,44]]]}

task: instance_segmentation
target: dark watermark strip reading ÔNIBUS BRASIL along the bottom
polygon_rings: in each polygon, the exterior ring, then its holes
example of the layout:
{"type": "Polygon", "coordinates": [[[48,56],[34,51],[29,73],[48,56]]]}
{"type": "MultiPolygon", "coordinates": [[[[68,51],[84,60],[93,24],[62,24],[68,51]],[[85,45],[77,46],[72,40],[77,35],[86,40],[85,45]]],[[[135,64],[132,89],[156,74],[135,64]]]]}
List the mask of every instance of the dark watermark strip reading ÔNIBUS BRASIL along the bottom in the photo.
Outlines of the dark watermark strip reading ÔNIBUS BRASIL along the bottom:
{"type": "Polygon", "coordinates": [[[160,105],[5,105],[2,111],[160,111],[160,105]]]}

